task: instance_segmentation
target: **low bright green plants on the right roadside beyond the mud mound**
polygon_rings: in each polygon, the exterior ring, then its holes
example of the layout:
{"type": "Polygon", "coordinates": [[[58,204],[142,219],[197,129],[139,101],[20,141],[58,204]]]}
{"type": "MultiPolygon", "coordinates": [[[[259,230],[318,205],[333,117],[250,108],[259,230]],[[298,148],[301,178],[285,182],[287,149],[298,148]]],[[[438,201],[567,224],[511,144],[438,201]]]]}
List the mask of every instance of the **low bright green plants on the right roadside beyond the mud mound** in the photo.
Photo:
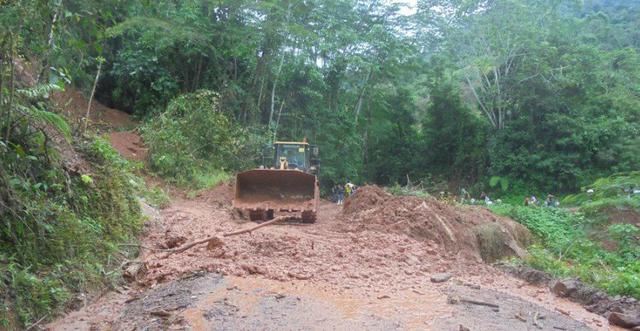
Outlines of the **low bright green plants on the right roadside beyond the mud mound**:
{"type": "Polygon", "coordinates": [[[581,213],[557,208],[502,204],[491,209],[522,223],[538,239],[538,243],[529,248],[531,256],[524,259],[524,263],[556,277],[579,277],[611,294],[640,298],[640,229],[637,226],[602,226],[581,213]],[[609,247],[593,236],[594,232],[602,231],[608,234],[609,247]]]}

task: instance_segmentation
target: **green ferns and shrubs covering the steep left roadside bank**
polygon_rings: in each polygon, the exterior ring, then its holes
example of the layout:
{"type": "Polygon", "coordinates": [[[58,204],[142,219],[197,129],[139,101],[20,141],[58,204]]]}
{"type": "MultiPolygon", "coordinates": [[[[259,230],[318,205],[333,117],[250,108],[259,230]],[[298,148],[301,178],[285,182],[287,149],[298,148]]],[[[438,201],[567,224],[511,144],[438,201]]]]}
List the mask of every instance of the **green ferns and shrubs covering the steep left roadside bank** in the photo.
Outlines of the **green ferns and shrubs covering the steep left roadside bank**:
{"type": "Polygon", "coordinates": [[[0,154],[0,197],[8,206],[0,209],[6,327],[8,314],[27,325],[55,315],[74,294],[117,279],[117,244],[135,240],[142,225],[130,167],[107,141],[77,146],[91,169],[84,174],[67,172],[48,146],[12,144],[0,154]]]}

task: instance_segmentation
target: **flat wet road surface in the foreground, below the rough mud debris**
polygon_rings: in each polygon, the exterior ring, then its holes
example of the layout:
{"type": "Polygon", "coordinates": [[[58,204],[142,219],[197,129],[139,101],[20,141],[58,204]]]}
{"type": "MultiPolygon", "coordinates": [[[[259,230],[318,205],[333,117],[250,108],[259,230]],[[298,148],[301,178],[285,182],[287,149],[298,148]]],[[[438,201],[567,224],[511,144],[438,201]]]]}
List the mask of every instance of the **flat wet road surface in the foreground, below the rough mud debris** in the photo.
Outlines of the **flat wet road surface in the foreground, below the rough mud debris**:
{"type": "MultiPolygon", "coordinates": [[[[124,296],[121,298],[123,299],[124,296]]],[[[104,299],[103,299],[104,300],[104,299]]],[[[590,330],[586,324],[532,302],[486,289],[451,285],[445,293],[411,291],[395,297],[335,293],[305,282],[198,273],[157,286],[122,303],[117,315],[71,315],[54,330],[590,330]],[[453,303],[455,300],[460,300],[453,303]],[[483,304],[488,307],[464,300],[483,304]],[[111,317],[93,324],[96,316],[111,317]],[[534,316],[536,317],[534,319],[534,316]],[[104,321],[103,321],[104,322],[104,321]],[[535,324],[534,324],[535,323],[535,324]]],[[[106,304],[106,305],[105,305],[106,304]]]]}

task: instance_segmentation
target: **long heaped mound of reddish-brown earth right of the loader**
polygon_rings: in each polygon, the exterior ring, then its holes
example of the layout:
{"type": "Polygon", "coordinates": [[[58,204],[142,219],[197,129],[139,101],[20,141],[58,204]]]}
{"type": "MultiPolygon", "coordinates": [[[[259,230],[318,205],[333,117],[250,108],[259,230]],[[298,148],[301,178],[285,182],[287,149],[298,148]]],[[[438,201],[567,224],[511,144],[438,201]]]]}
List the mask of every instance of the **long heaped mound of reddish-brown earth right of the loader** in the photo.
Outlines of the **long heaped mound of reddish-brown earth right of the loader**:
{"type": "Polygon", "coordinates": [[[347,199],[339,231],[382,231],[408,235],[447,255],[484,262],[524,256],[529,231],[511,219],[477,206],[451,206],[434,198],[393,196],[365,186],[347,199]]]}

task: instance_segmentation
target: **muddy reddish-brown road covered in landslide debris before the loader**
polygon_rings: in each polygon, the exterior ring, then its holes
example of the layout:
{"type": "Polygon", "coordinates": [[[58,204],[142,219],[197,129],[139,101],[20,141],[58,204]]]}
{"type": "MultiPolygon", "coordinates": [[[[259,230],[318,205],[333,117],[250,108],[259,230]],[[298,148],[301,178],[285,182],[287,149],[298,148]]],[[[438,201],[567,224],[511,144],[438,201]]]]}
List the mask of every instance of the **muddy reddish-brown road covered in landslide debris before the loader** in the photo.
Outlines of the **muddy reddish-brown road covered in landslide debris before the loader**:
{"type": "MultiPolygon", "coordinates": [[[[231,217],[231,193],[222,185],[148,211],[143,245],[173,248],[252,226],[231,217]]],[[[609,329],[604,318],[546,287],[527,285],[437,243],[345,224],[349,220],[339,206],[323,202],[316,224],[273,225],[167,258],[145,250],[139,260],[147,270],[136,281],[47,328],[609,329]]]]}

